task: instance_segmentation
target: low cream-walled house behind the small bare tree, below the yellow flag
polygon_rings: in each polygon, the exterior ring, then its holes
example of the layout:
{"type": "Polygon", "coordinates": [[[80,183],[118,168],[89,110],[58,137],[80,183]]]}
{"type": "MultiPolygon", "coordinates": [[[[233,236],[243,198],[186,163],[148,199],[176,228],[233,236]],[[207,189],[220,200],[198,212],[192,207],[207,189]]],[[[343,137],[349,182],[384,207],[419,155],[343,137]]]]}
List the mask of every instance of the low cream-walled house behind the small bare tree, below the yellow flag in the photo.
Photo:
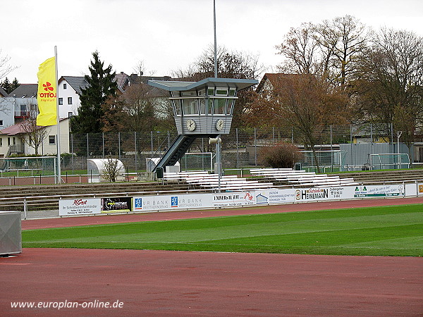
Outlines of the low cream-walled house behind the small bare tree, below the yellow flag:
{"type": "MultiPolygon", "coordinates": [[[[69,153],[69,119],[60,120],[60,149],[61,153],[69,153]]],[[[40,155],[56,155],[57,125],[42,127],[45,131],[44,138],[38,147],[40,155]]],[[[11,125],[0,130],[0,157],[8,157],[13,154],[32,155],[35,148],[28,144],[30,135],[23,129],[23,122],[11,125]]]]}

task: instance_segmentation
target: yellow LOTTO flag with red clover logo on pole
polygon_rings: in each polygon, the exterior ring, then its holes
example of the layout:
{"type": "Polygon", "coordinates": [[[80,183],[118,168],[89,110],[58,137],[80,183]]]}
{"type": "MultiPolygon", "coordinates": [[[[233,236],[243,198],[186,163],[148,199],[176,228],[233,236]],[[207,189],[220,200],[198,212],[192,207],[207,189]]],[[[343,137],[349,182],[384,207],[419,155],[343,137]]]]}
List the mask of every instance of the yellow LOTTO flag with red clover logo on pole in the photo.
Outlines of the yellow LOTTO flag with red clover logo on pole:
{"type": "Polygon", "coordinates": [[[38,68],[37,125],[56,125],[56,61],[51,57],[38,68]]]}

